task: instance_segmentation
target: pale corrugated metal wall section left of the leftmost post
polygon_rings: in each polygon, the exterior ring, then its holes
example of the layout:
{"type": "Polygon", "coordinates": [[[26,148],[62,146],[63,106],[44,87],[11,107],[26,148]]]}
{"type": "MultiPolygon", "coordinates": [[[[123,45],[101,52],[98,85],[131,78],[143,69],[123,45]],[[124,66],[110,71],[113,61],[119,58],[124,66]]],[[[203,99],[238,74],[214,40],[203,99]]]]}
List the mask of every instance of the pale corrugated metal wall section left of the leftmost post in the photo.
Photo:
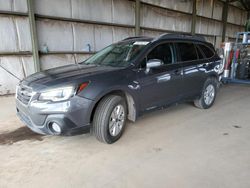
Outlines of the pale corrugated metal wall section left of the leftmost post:
{"type": "MultiPolygon", "coordinates": [[[[0,10],[27,13],[26,0],[0,0],[0,10]]],[[[0,15],[0,54],[32,51],[29,21],[26,16],[0,15]]],[[[0,64],[18,78],[34,72],[31,55],[1,55],[0,64]]],[[[18,80],[0,67],[0,95],[15,92],[18,80]]]]}

